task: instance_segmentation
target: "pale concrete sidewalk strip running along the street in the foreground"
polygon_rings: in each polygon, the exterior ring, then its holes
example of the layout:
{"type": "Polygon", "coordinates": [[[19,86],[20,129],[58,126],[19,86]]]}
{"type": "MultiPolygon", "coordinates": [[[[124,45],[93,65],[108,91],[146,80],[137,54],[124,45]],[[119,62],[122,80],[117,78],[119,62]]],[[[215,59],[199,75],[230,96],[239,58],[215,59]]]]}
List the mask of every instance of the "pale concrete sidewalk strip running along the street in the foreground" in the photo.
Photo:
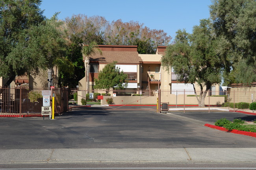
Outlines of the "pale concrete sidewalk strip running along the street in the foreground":
{"type": "Polygon", "coordinates": [[[256,163],[256,148],[0,150],[8,163],[256,163]]]}

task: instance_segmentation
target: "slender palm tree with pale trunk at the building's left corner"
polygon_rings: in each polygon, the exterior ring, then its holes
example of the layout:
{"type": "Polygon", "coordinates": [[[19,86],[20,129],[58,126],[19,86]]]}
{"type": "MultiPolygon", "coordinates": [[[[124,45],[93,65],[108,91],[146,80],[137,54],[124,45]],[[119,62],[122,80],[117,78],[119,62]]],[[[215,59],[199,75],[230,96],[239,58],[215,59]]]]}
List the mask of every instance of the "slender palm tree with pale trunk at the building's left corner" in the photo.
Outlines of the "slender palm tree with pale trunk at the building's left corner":
{"type": "Polygon", "coordinates": [[[86,90],[87,93],[89,93],[89,72],[90,72],[90,56],[95,55],[96,53],[99,53],[102,55],[102,51],[98,48],[98,44],[93,41],[88,45],[83,45],[82,48],[82,55],[84,60],[84,67],[85,67],[85,75],[86,75],[86,90]]]}

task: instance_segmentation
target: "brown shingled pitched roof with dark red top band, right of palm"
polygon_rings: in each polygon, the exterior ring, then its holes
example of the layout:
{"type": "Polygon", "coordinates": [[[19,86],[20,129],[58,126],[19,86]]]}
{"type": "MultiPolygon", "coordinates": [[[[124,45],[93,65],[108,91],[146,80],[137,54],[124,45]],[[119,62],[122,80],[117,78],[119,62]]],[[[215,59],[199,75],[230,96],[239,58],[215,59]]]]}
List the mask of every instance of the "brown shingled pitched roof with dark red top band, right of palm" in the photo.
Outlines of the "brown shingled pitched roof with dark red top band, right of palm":
{"type": "Polygon", "coordinates": [[[90,56],[91,62],[111,63],[117,61],[117,63],[126,64],[139,64],[142,62],[137,52],[137,46],[99,45],[99,48],[102,50],[102,55],[90,56]]]}

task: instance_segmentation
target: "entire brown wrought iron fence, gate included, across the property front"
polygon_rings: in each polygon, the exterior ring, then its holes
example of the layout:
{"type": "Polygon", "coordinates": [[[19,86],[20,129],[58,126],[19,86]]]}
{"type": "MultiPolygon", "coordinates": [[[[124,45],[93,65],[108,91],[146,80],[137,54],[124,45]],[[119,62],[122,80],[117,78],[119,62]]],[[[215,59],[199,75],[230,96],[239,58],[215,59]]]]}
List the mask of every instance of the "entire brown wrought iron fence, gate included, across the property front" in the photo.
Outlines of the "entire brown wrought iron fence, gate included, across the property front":
{"type": "MultiPolygon", "coordinates": [[[[0,88],[0,113],[13,115],[40,115],[43,106],[40,87],[0,88]]],[[[200,91],[114,89],[110,91],[70,88],[52,89],[55,94],[55,113],[68,110],[85,111],[139,111],[161,112],[163,104],[168,112],[236,112],[249,110],[256,102],[256,91],[231,90],[208,91],[200,97],[200,91]],[[215,95],[213,95],[215,94],[215,95]]]]}

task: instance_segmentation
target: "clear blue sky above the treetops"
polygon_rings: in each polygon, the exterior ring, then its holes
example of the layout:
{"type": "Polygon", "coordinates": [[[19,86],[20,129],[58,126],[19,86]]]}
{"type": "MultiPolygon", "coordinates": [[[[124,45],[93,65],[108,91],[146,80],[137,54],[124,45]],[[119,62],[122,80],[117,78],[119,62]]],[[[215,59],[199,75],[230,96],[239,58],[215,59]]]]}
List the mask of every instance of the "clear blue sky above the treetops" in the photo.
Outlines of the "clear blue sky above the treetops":
{"type": "Polygon", "coordinates": [[[61,12],[59,19],[85,14],[104,16],[109,22],[138,21],[174,38],[178,29],[191,33],[200,19],[209,18],[210,4],[211,0],[43,0],[40,8],[47,18],[61,12]]]}

